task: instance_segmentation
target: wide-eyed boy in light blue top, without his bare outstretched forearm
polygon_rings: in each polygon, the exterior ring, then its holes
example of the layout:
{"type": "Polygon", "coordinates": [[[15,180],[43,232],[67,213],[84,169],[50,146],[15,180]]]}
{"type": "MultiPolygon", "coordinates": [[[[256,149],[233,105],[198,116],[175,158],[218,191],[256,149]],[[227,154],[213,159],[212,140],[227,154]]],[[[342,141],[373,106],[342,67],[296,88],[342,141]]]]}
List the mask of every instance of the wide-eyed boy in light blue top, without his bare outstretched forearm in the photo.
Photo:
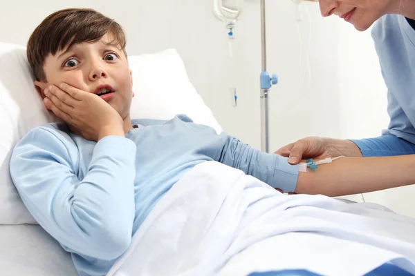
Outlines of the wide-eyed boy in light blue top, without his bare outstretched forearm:
{"type": "Polygon", "coordinates": [[[104,275],[157,201],[203,161],[239,168],[293,192],[298,167],[225,133],[133,121],[131,71],[118,23],[89,9],[59,10],[35,29],[28,60],[46,108],[66,124],[30,131],[10,173],[30,213],[70,252],[80,275],[104,275]]]}

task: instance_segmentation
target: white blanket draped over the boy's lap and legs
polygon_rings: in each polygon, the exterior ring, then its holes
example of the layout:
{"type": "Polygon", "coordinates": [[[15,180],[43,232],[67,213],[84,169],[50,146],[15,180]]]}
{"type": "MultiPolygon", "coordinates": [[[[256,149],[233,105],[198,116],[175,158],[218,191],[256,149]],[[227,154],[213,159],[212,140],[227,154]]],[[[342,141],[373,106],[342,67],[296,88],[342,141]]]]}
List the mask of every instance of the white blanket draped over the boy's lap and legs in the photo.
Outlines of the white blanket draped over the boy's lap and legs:
{"type": "Polygon", "coordinates": [[[208,161],[160,199],[109,275],[351,276],[385,262],[415,274],[415,219],[374,204],[282,195],[208,161]]]}

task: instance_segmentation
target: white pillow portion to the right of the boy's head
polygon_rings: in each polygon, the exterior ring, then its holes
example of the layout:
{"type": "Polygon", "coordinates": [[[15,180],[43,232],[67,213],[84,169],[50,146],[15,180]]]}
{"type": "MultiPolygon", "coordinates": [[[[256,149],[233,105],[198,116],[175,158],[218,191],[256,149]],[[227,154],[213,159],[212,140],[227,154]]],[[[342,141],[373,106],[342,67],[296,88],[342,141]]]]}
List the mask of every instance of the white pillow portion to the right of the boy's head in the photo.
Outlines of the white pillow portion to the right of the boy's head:
{"type": "Polygon", "coordinates": [[[176,50],[129,57],[133,76],[131,119],[171,119],[189,116],[196,124],[222,132],[212,111],[190,83],[185,64],[176,50]]]}

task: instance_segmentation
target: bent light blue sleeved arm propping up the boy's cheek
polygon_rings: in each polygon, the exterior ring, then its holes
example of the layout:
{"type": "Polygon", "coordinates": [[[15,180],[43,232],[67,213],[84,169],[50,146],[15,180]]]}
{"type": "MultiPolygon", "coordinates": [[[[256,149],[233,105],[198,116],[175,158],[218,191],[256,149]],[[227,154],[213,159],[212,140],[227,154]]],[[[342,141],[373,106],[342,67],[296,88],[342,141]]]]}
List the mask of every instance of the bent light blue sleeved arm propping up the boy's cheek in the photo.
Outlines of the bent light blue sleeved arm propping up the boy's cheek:
{"type": "Polygon", "coordinates": [[[71,148],[57,132],[33,130],[13,151],[12,179],[30,213],[58,242],[115,259],[131,242],[136,145],[123,137],[100,139],[84,179],[77,177],[71,148]]]}

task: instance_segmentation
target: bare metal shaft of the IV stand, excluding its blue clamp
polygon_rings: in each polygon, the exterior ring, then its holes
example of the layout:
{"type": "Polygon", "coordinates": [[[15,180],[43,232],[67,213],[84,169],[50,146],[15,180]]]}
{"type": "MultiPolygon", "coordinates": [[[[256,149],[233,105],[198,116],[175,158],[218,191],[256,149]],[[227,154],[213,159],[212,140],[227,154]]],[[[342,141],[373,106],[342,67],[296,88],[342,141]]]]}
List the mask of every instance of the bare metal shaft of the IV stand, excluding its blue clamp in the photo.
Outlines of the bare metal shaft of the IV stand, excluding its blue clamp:
{"type": "MultiPolygon", "coordinates": [[[[265,0],[261,0],[261,58],[262,72],[266,72],[265,0]]],[[[261,89],[261,150],[269,152],[268,89],[261,89]]]]}

